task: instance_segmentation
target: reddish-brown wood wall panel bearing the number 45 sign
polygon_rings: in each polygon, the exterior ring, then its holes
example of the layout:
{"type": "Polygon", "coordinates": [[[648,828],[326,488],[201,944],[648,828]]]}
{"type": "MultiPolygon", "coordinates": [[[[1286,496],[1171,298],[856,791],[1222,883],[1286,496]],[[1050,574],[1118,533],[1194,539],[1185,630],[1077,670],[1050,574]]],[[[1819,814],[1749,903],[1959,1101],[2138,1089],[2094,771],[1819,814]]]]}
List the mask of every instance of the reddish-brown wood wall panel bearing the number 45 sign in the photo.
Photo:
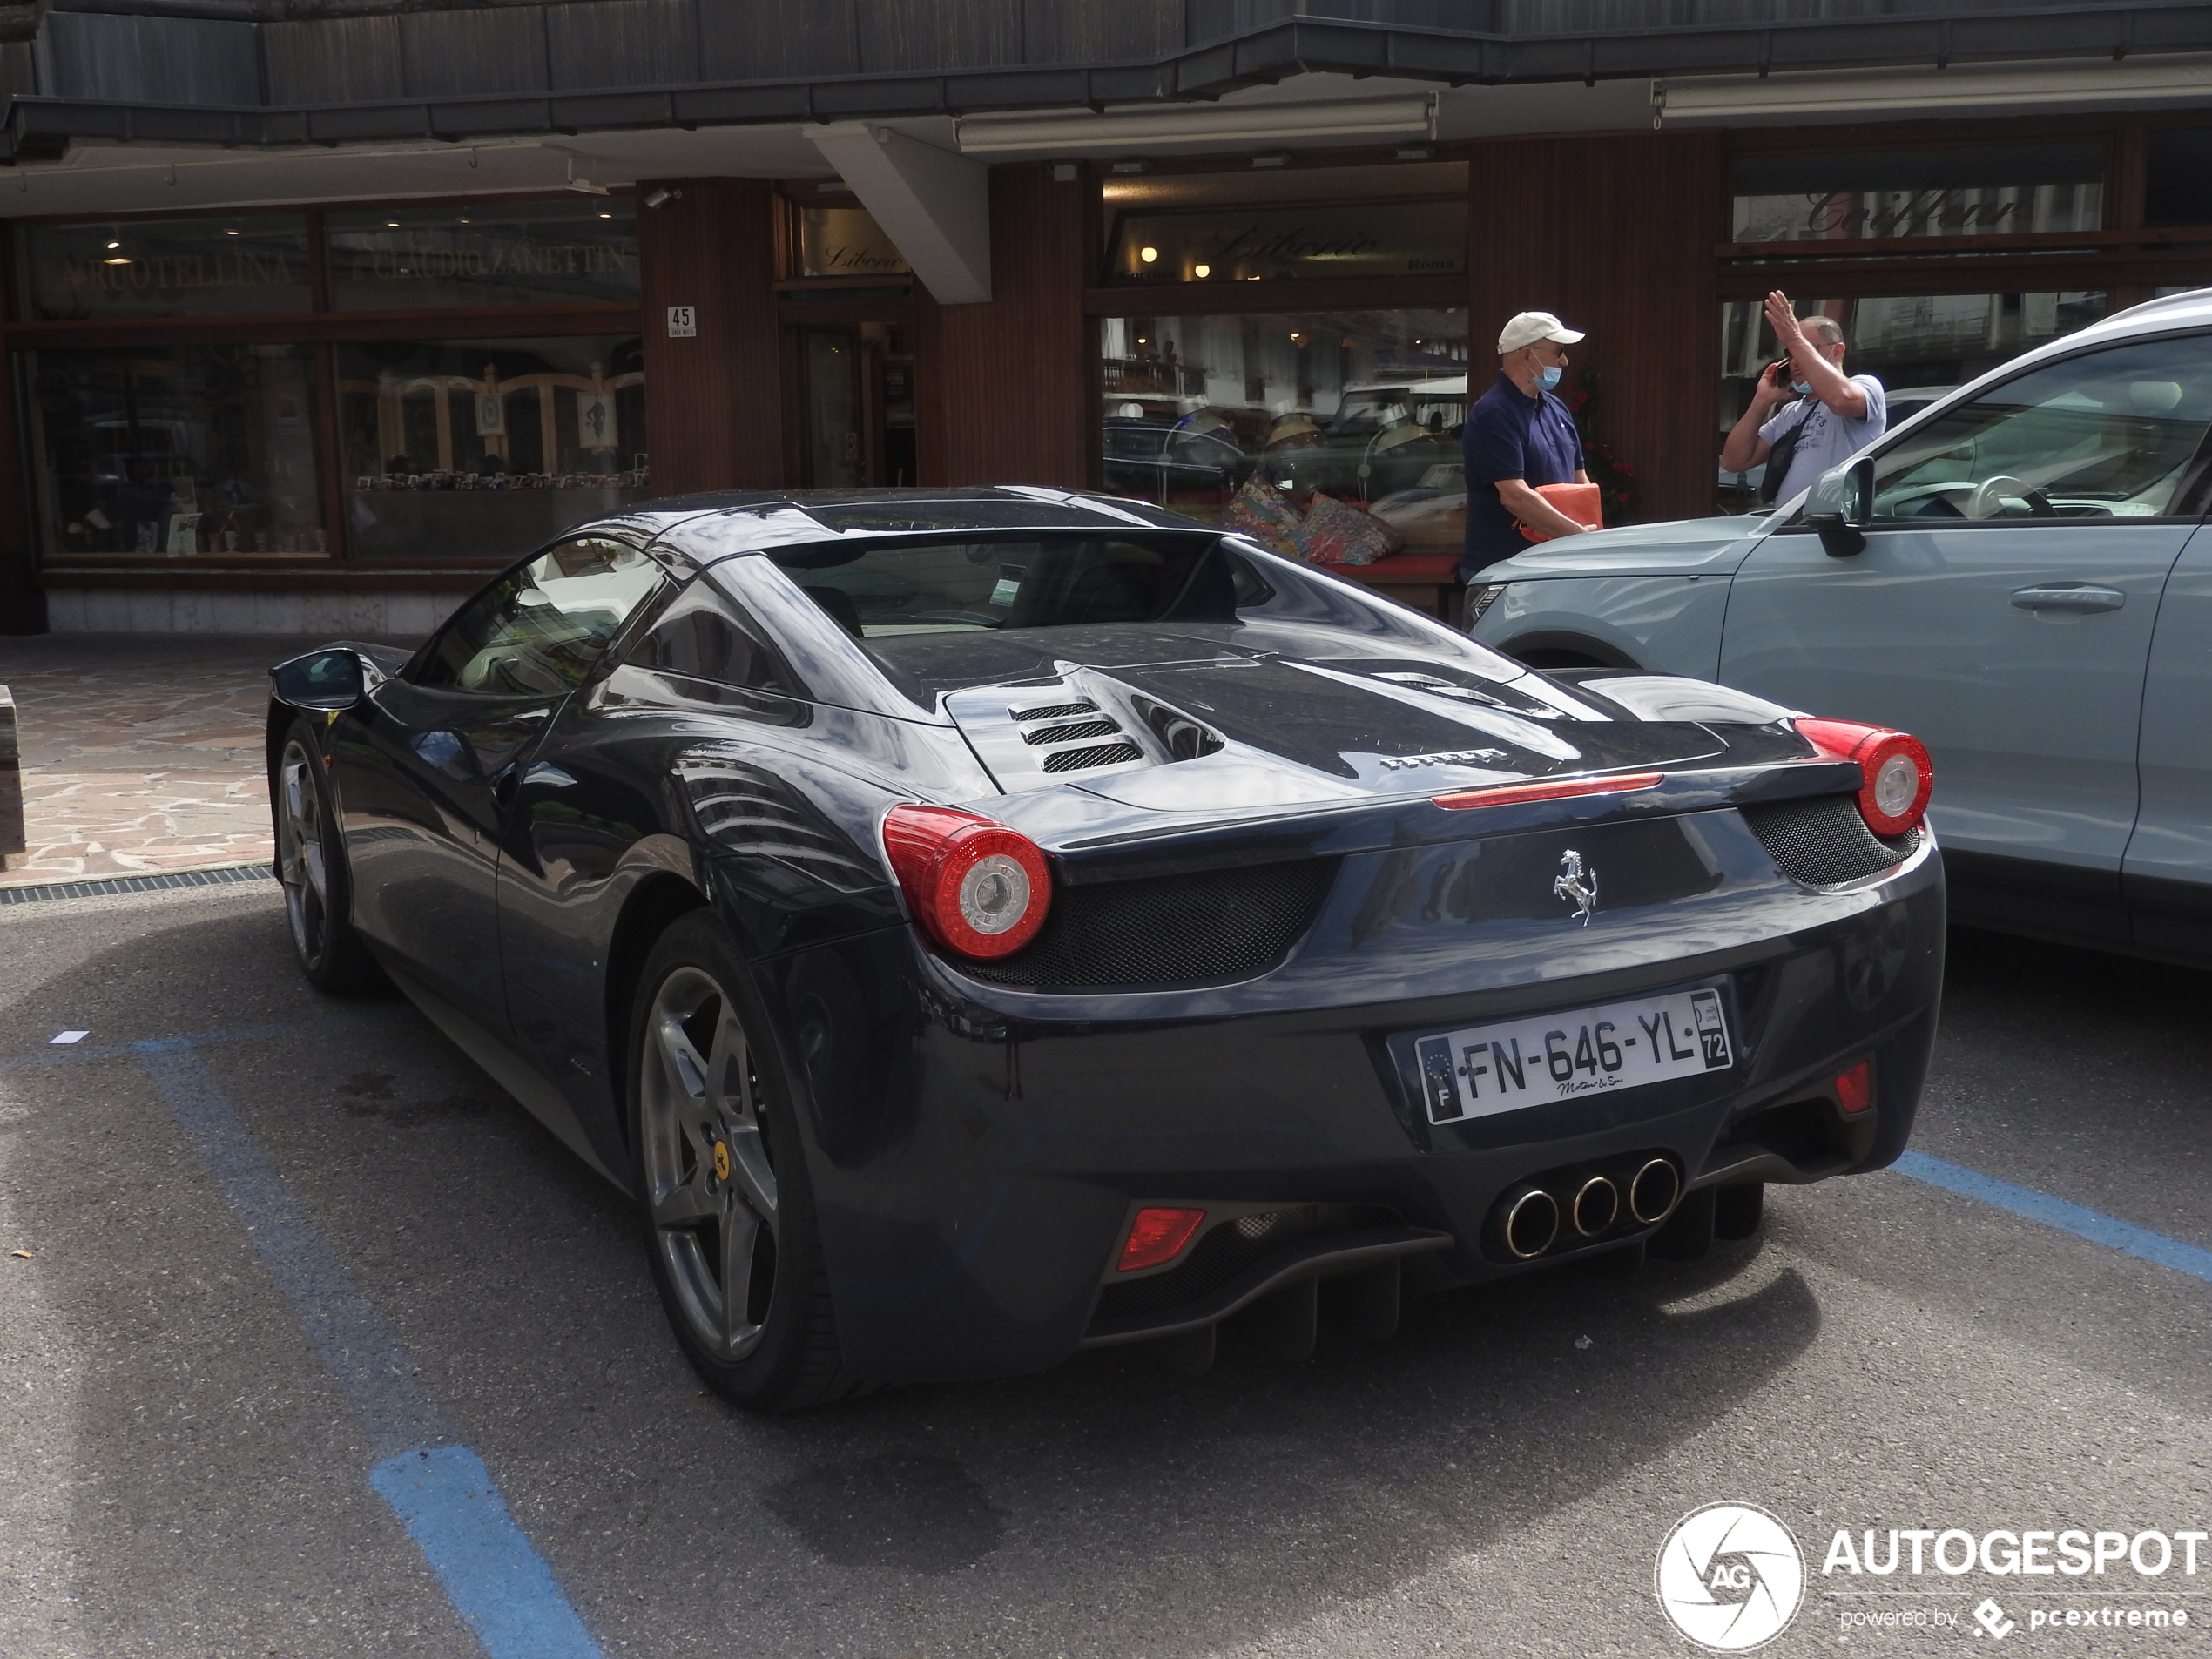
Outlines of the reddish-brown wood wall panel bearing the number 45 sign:
{"type": "Polygon", "coordinates": [[[765,179],[688,179],[659,208],[637,188],[653,493],[781,489],[783,365],[776,345],[774,192],[765,179]],[[668,338],[668,307],[699,336],[668,338]]]}

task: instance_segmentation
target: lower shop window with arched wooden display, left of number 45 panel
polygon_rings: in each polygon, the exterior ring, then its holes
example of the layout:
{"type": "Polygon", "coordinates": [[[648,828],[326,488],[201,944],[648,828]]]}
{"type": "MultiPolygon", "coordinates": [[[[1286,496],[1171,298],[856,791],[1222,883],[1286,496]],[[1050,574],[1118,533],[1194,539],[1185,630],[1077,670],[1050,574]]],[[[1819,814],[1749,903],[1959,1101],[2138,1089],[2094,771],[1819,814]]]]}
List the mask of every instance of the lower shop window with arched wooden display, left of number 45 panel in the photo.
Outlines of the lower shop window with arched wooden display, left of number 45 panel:
{"type": "Polygon", "coordinates": [[[341,345],[354,557],[504,560],[644,500],[637,336],[341,345]]]}

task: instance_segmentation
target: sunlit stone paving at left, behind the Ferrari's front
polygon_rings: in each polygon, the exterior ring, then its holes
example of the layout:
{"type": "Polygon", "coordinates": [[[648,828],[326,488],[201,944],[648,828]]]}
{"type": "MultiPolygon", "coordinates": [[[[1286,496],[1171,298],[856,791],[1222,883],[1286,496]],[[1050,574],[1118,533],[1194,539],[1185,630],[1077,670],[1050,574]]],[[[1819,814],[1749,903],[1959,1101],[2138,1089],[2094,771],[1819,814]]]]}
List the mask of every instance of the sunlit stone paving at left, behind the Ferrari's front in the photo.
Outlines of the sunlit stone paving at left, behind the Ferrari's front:
{"type": "Polygon", "coordinates": [[[319,639],[0,637],[22,730],[27,852],[0,887],[270,856],[268,666],[319,639]]]}

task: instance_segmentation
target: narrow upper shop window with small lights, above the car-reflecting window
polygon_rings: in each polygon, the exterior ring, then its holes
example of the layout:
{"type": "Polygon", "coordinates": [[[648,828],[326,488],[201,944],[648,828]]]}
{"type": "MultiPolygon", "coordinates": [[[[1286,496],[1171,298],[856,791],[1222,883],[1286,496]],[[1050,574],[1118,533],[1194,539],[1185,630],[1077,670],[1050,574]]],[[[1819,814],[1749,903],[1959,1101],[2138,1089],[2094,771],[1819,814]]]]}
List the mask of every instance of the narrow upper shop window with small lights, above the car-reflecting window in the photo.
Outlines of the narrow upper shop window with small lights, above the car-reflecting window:
{"type": "Polygon", "coordinates": [[[1108,283],[1467,270],[1467,164],[1108,179],[1108,283]]]}

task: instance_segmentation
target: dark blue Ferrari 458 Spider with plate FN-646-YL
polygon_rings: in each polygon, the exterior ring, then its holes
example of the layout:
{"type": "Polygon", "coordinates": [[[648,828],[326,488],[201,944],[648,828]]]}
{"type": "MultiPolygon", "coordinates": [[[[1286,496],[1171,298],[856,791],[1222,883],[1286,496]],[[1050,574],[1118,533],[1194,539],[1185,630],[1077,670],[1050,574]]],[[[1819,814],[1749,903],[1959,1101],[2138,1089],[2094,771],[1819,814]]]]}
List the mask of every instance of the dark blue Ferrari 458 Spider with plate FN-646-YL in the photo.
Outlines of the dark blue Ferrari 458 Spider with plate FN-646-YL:
{"type": "Polygon", "coordinates": [[[635,1194],[748,1407],[1694,1256],[1927,1071],[1918,741],[1137,502],[661,502],[272,681],[307,978],[635,1194]]]}

